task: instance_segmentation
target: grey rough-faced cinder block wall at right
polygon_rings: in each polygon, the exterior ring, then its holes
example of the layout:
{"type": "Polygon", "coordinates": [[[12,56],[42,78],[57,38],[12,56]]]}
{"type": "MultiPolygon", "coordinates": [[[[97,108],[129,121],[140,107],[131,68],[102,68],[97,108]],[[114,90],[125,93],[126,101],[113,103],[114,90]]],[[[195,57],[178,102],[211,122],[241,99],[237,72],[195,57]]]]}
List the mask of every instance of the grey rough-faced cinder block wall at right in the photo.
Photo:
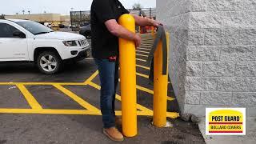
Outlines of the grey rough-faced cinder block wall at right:
{"type": "Polygon", "coordinates": [[[238,106],[256,116],[256,0],[157,0],[157,18],[182,113],[238,106]]]}

